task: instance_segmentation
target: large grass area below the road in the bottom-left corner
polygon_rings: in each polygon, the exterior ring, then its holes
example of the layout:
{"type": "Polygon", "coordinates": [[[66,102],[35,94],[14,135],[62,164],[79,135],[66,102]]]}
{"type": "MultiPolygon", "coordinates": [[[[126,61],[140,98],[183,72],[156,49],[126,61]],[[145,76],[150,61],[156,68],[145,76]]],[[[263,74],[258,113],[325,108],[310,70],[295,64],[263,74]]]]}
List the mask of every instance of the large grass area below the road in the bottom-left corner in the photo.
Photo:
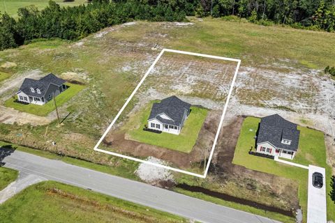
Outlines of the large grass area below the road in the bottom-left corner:
{"type": "Polygon", "coordinates": [[[129,201],[54,181],[27,187],[0,206],[1,222],[186,222],[129,201]]]}

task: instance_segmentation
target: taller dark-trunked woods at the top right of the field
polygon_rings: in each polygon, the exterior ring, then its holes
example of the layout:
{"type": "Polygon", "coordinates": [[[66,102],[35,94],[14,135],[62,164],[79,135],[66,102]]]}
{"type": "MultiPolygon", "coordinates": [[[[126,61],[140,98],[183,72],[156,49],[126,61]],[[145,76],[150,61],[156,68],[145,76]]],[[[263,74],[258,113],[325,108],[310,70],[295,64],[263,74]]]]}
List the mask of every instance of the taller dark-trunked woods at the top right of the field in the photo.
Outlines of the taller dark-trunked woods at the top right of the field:
{"type": "Polygon", "coordinates": [[[335,31],[335,0],[200,0],[199,16],[235,15],[259,24],[335,31]]]}

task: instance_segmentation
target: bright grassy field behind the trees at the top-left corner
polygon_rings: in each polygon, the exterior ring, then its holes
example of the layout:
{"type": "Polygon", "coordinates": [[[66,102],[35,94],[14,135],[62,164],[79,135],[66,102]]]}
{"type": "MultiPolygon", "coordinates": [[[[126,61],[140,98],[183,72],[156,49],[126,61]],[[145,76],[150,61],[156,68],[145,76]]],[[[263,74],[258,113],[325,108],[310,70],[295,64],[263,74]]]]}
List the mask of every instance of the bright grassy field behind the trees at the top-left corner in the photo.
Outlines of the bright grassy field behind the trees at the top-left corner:
{"type": "MultiPolygon", "coordinates": [[[[78,6],[87,3],[86,0],[75,0],[73,2],[64,2],[63,0],[53,1],[56,1],[60,6],[78,6]]],[[[48,2],[48,0],[0,0],[0,12],[6,12],[8,15],[17,17],[17,10],[19,8],[34,5],[41,10],[48,5],[48,2]]]]}

